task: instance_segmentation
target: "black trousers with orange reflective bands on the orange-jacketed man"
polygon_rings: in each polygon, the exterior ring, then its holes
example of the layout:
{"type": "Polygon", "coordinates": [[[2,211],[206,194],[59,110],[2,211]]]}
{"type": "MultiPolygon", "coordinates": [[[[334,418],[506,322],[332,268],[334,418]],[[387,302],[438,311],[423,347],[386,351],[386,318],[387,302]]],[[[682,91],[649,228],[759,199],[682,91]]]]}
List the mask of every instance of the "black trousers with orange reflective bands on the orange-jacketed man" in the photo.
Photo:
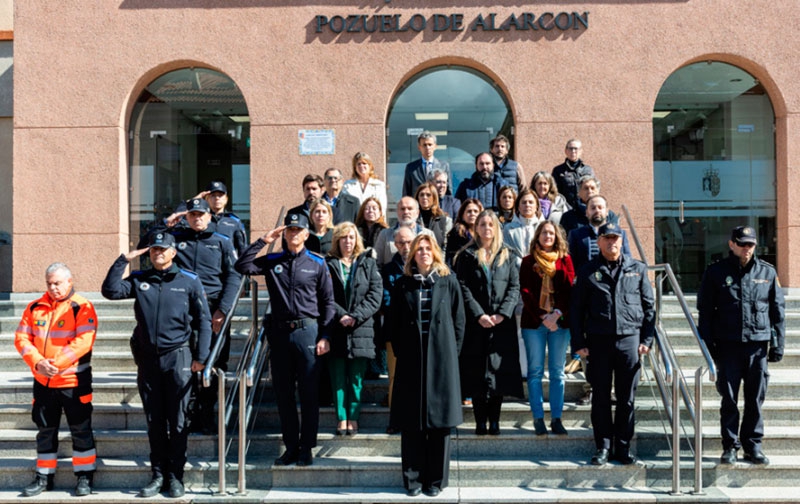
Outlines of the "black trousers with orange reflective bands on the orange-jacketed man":
{"type": "Polygon", "coordinates": [[[36,472],[56,472],[62,410],[72,435],[73,471],[89,473],[95,470],[97,453],[92,434],[91,378],[86,381],[74,388],[50,388],[36,381],[33,383],[31,417],[39,429],[36,433],[36,472]]]}

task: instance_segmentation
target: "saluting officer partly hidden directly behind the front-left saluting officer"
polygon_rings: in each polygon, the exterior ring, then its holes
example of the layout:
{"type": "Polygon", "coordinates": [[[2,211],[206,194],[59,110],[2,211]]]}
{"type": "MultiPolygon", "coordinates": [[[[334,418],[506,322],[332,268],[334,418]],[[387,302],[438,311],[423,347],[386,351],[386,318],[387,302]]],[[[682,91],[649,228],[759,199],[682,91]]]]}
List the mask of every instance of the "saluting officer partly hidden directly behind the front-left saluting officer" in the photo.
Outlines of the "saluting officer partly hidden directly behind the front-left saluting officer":
{"type": "MultiPolygon", "coordinates": [[[[236,251],[227,236],[216,231],[212,222],[212,212],[208,202],[194,198],[186,203],[187,226],[165,229],[156,226],[153,233],[169,231],[174,237],[178,254],[175,263],[179,268],[197,273],[206,292],[208,309],[211,311],[211,328],[218,334],[225,316],[236,303],[239,283],[242,276],[234,269],[236,251]]],[[[227,371],[230,356],[230,327],[222,335],[225,338],[222,349],[214,365],[227,371]]],[[[213,346],[214,342],[212,342],[213,346]]],[[[212,386],[204,388],[195,382],[197,407],[192,412],[191,429],[210,434],[214,430],[214,405],[217,402],[216,375],[212,386]]]]}

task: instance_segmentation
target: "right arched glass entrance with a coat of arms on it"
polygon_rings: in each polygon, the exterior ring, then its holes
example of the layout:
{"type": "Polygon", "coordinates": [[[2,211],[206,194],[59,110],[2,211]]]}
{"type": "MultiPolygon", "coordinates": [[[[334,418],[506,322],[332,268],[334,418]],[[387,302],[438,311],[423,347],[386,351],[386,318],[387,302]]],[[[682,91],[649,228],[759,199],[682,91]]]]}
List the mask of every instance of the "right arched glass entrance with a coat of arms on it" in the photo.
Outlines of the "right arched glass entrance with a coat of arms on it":
{"type": "Polygon", "coordinates": [[[656,261],[685,291],[728,253],[730,230],[758,232],[757,254],[775,262],[775,114],[748,72],[721,62],[675,71],[653,111],[656,261]]]}

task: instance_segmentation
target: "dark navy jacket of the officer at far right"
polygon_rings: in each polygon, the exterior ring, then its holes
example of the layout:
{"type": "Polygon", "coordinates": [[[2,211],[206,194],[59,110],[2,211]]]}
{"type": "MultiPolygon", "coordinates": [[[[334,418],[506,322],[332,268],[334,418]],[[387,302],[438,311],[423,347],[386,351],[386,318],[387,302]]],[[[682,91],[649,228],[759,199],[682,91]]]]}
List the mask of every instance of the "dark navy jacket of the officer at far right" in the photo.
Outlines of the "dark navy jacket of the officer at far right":
{"type": "Polygon", "coordinates": [[[757,257],[742,267],[731,253],[710,265],[697,293],[700,336],[709,350],[727,341],[770,341],[784,347],[783,290],[775,268],[757,257]]]}

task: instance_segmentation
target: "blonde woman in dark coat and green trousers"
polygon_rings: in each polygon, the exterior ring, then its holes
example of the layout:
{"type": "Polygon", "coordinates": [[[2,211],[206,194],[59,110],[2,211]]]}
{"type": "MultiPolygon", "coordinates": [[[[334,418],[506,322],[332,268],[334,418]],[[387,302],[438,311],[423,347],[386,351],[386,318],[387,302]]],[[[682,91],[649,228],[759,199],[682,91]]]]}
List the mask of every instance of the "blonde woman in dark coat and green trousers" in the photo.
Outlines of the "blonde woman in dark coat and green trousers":
{"type": "Polygon", "coordinates": [[[383,281],[372,249],[364,251],[356,225],[333,230],[327,258],[336,301],[328,370],[339,423],[336,434],[355,436],[361,413],[361,387],[375,358],[374,315],[383,300],[383,281]]]}

